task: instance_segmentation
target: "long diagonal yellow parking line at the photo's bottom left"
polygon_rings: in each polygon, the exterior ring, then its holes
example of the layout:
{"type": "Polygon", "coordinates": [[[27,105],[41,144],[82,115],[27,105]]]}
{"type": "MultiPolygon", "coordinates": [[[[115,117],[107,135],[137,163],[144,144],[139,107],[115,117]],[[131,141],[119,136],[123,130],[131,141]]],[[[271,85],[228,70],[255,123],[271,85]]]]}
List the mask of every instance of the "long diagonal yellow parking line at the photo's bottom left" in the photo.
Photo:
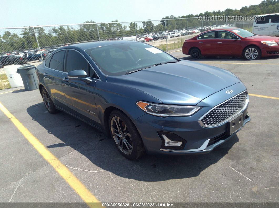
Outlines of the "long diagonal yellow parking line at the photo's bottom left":
{"type": "Polygon", "coordinates": [[[69,169],[62,164],[31,132],[14,117],[0,102],[0,110],[15,124],[23,136],[44,157],[44,159],[60,174],[60,176],[74,189],[74,191],[87,203],[89,207],[101,207],[98,199],[74,176],[69,169]]]}

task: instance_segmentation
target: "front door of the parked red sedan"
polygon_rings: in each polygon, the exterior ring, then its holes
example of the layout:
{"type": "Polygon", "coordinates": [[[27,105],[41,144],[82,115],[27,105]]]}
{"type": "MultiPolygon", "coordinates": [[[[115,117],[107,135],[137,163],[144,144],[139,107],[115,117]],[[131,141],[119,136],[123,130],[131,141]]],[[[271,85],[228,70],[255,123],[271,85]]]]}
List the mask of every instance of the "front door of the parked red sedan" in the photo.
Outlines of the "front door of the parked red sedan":
{"type": "Polygon", "coordinates": [[[240,38],[231,32],[218,31],[218,38],[216,39],[216,55],[241,56],[240,41],[240,38]]]}

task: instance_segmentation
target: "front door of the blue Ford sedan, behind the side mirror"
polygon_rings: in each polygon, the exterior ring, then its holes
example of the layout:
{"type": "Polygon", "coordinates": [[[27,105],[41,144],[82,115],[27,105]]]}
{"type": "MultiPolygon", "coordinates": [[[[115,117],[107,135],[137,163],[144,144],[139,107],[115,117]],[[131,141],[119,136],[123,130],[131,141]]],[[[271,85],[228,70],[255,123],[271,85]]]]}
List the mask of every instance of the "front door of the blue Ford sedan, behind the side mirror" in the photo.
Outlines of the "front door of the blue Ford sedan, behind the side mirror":
{"type": "Polygon", "coordinates": [[[76,116],[91,122],[88,120],[89,118],[95,121],[94,125],[97,125],[98,116],[94,98],[95,76],[92,66],[80,52],[76,50],[67,51],[65,72],[62,75],[62,78],[64,78],[62,87],[68,107],[73,110],[72,113],[76,114],[76,116]],[[68,73],[77,69],[84,70],[88,77],[92,79],[92,82],[87,84],[80,80],[67,80],[68,73]]]}

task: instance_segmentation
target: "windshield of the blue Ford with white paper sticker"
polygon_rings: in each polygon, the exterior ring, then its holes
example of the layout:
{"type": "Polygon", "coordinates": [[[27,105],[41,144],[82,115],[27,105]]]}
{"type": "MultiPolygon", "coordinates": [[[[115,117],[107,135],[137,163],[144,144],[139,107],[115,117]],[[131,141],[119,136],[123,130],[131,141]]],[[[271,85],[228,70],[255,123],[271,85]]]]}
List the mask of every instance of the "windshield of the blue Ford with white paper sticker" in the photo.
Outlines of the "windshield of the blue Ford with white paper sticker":
{"type": "Polygon", "coordinates": [[[162,62],[177,59],[145,43],[121,43],[86,50],[106,75],[124,75],[162,62]]]}

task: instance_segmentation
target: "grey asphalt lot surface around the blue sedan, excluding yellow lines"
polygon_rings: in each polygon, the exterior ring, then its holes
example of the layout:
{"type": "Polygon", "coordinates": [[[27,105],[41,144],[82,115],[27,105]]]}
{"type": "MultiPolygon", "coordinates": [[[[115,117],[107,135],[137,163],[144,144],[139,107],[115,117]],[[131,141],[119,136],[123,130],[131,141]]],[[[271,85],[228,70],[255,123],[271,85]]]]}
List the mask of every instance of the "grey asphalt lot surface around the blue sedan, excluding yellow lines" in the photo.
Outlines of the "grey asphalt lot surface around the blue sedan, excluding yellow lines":
{"type": "MultiPolygon", "coordinates": [[[[279,97],[278,60],[197,61],[233,72],[250,94],[279,97]]],[[[102,132],[46,112],[39,90],[12,90],[0,102],[101,202],[279,202],[278,99],[250,96],[251,122],[209,154],[129,161],[102,132]]],[[[1,111],[0,176],[0,202],[83,202],[1,111]]]]}

